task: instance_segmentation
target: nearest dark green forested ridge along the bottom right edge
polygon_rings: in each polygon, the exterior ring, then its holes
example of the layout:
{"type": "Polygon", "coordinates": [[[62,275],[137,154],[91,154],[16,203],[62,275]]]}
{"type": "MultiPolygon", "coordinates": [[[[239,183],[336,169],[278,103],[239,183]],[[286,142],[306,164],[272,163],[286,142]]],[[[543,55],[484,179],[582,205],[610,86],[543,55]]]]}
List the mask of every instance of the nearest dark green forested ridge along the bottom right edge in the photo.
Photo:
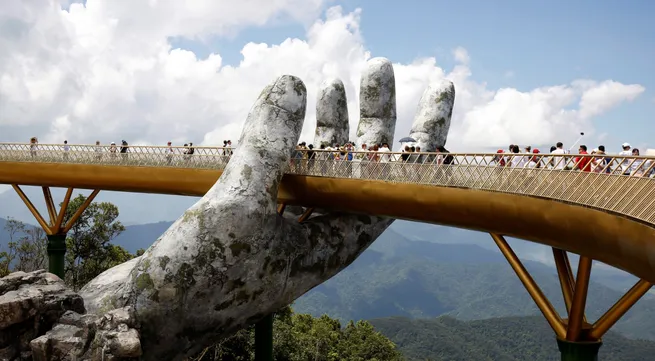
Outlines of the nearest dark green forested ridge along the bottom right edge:
{"type": "MultiPolygon", "coordinates": [[[[541,317],[505,317],[463,322],[451,317],[370,320],[408,361],[559,361],[552,329],[541,317]]],[[[655,342],[630,340],[615,332],[603,338],[599,359],[646,361],[655,342]]]]}

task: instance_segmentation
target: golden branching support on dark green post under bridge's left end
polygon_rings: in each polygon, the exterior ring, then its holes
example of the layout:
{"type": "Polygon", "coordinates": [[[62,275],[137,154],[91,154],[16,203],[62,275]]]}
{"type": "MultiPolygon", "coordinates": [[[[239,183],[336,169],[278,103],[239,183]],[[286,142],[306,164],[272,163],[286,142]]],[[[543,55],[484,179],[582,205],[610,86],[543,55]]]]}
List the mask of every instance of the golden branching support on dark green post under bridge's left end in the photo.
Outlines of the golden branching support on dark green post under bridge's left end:
{"type": "Polygon", "coordinates": [[[39,213],[36,207],[34,207],[34,204],[30,201],[20,186],[12,184],[12,187],[16,193],[18,193],[18,196],[23,200],[23,203],[25,203],[48,237],[48,272],[56,274],[63,280],[66,276],[66,234],[71,227],[73,227],[75,222],[80,219],[82,213],[84,213],[91,202],[93,202],[93,199],[95,199],[100,190],[96,189],[91,192],[82,206],[80,206],[74,214],[67,215],[66,210],[68,209],[68,204],[73,195],[73,188],[68,188],[64,201],[61,203],[61,208],[59,209],[59,212],[57,212],[50,188],[41,187],[43,189],[46,209],[48,210],[49,222],[47,222],[43,216],[41,216],[41,213],[39,213]]]}

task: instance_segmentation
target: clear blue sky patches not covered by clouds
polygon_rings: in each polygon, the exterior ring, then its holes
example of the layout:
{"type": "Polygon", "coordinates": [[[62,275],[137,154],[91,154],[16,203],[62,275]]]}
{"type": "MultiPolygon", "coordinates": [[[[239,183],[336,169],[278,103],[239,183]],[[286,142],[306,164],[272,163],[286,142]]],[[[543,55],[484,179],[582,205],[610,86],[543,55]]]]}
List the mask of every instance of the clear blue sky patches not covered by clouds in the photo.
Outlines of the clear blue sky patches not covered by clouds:
{"type": "MultiPolygon", "coordinates": [[[[346,12],[362,8],[362,33],[374,56],[403,63],[434,56],[450,69],[452,50],[466,48],[473,79],[491,89],[529,91],[575,79],[641,84],[645,93],[598,117],[596,129],[609,134],[604,140],[609,149],[618,150],[624,141],[655,148],[650,139],[655,2],[343,0],[328,5],[341,5],[346,12]]],[[[201,57],[218,52],[226,64],[238,64],[246,43],[279,44],[289,37],[304,38],[305,28],[272,25],[205,44],[179,39],[174,44],[201,57]]]]}

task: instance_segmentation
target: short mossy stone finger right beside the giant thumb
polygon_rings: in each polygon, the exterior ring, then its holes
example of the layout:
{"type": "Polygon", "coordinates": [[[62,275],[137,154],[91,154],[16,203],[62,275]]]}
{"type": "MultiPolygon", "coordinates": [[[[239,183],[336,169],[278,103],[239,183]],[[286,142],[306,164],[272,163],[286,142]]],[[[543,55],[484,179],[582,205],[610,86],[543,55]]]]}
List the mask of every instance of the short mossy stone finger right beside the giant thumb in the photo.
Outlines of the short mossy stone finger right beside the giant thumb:
{"type": "Polygon", "coordinates": [[[328,79],[321,84],[316,99],[314,146],[343,145],[349,132],[346,89],[341,79],[328,79]]]}

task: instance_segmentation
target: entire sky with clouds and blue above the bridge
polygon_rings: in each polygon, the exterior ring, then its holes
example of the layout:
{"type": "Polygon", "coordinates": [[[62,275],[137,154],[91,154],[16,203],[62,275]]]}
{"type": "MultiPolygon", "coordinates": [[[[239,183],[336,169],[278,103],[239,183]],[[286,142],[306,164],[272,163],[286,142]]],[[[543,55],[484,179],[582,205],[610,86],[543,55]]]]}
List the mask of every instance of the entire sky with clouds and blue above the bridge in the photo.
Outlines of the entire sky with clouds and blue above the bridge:
{"type": "MultiPolygon", "coordinates": [[[[371,57],[394,63],[406,136],[432,81],[455,83],[447,148],[655,148],[646,0],[3,0],[0,142],[133,145],[239,138],[281,74],[343,80],[351,132],[371,57]]],[[[353,134],[354,138],[354,134],[353,134]]]]}

